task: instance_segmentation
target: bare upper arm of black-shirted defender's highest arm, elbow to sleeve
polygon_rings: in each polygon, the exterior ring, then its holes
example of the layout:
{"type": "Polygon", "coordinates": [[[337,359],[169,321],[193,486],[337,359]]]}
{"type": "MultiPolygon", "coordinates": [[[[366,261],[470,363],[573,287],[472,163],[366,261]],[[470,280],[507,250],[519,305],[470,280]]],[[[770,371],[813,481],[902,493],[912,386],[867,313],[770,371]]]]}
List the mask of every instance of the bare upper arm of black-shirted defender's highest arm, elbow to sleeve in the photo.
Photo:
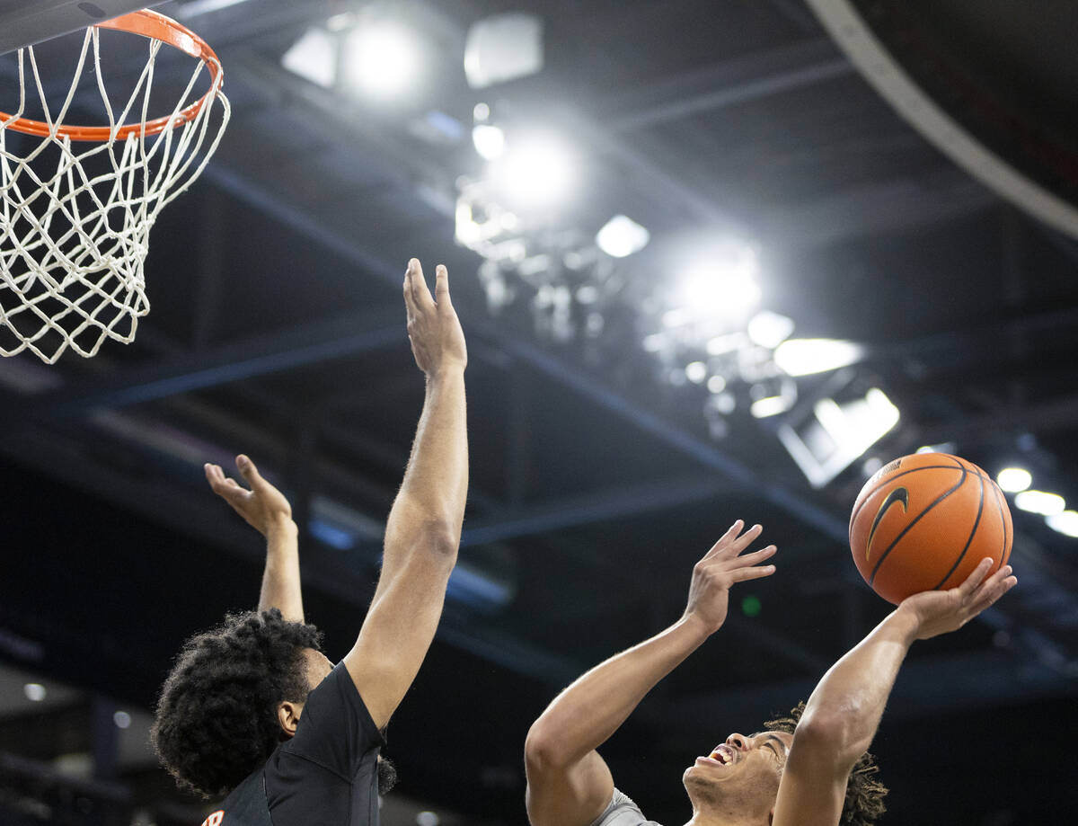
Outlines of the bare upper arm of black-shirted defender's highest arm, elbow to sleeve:
{"type": "Polygon", "coordinates": [[[415,679],[434,637],[452,555],[414,552],[378,592],[344,663],[378,728],[384,727],[415,679]]]}

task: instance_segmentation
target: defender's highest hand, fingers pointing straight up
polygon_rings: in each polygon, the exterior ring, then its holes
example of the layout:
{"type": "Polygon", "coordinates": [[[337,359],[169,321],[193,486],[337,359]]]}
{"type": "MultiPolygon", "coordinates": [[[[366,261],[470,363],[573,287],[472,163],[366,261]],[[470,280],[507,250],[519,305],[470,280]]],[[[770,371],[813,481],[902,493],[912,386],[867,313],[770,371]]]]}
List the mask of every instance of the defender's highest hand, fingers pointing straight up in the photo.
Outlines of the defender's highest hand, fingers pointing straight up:
{"type": "Polygon", "coordinates": [[[464,370],[468,349],[460,320],[450,300],[450,276],[443,264],[434,270],[434,295],[431,297],[418,260],[409,261],[404,273],[404,307],[407,338],[419,369],[428,377],[446,368],[464,370]]]}

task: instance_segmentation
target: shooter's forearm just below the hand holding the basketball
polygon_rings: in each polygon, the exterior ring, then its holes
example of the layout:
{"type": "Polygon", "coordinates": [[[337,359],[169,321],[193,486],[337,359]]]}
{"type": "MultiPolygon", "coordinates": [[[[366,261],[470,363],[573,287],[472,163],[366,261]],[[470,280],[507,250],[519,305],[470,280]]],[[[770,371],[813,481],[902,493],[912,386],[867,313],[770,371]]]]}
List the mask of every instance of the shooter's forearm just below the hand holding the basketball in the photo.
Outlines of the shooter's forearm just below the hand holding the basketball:
{"type": "Polygon", "coordinates": [[[808,698],[802,727],[830,741],[828,752],[851,765],[868,749],[917,623],[893,611],[827,672],[808,698]]]}

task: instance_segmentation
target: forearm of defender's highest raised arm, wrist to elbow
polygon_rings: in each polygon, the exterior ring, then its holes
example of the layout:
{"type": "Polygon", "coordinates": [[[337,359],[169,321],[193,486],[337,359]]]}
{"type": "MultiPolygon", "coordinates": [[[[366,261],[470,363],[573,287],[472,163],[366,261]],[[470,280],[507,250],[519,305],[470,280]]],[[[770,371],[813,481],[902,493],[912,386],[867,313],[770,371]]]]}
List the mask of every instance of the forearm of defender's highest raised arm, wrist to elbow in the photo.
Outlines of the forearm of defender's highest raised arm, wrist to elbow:
{"type": "Polygon", "coordinates": [[[468,436],[462,368],[427,380],[404,481],[386,523],[383,576],[434,539],[455,547],[468,495],[468,436]]]}

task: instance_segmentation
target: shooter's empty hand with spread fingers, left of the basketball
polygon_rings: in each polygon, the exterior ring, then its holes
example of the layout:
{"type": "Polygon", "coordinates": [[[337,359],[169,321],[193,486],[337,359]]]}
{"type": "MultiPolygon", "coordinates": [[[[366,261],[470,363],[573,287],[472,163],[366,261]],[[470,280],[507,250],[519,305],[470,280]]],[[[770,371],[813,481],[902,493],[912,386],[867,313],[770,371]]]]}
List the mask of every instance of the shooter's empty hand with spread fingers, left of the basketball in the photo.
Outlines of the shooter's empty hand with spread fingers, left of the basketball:
{"type": "Polygon", "coordinates": [[[775,546],[769,545],[766,548],[741,555],[763,529],[760,525],[754,525],[742,533],[744,527],[745,523],[741,520],[734,522],[692,568],[689,603],[685,616],[702,621],[707,633],[718,631],[725,621],[731,586],[775,573],[774,565],[760,564],[775,553],[775,546]]]}

